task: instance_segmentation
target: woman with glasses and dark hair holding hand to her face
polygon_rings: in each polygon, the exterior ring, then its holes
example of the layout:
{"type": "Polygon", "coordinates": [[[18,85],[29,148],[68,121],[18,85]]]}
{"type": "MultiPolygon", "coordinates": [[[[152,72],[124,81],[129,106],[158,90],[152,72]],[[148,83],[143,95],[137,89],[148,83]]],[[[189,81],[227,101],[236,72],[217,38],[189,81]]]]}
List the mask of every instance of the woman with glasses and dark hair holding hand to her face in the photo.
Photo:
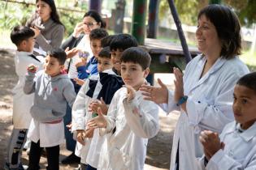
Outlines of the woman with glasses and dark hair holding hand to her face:
{"type": "MultiPolygon", "coordinates": [[[[101,15],[98,14],[97,11],[88,11],[85,13],[83,17],[83,21],[81,23],[76,24],[76,28],[71,36],[67,38],[67,40],[61,45],[62,49],[70,49],[69,51],[72,53],[76,53],[77,51],[87,51],[89,52],[89,58],[93,57],[93,53],[90,48],[89,41],[89,33],[96,28],[105,28],[106,23],[103,21],[101,15]]],[[[68,53],[68,52],[67,52],[68,53]]],[[[71,56],[72,56],[71,55],[71,56]]],[[[67,56],[69,56],[67,54],[67,56]]],[[[89,58],[87,61],[89,61],[89,58]]],[[[76,84],[75,79],[77,78],[77,70],[76,63],[80,62],[80,57],[75,55],[74,57],[67,60],[66,67],[68,71],[68,77],[72,79],[72,83],[74,84],[75,91],[78,92],[80,86],[76,84]]],[[[67,113],[64,117],[64,124],[68,125],[72,121],[72,109],[67,105],[67,113]]],[[[67,158],[62,160],[63,164],[71,164],[73,162],[79,162],[80,159],[75,155],[75,147],[76,141],[73,140],[72,134],[65,127],[65,136],[66,136],[66,147],[67,150],[72,151],[72,154],[67,156],[67,158]]],[[[78,153],[79,155],[80,153],[78,153]]],[[[83,164],[82,164],[83,165],[83,164]]]]}

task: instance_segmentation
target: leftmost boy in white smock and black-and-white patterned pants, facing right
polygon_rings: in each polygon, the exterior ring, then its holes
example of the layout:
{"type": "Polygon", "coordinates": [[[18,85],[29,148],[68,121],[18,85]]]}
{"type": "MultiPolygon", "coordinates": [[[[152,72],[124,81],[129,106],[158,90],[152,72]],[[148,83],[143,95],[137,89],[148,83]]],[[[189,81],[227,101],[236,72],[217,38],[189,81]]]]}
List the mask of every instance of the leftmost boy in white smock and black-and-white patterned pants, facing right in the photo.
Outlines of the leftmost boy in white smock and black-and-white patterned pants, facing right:
{"type": "Polygon", "coordinates": [[[16,26],[11,32],[11,41],[17,47],[15,72],[19,76],[19,81],[12,91],[14,94],[12,114],[14,128],[7,147],[5,169],[24,169],[20,163],[20,155],[31,121],[29,110],[33,104],[33,95],[25,95],[22,88],[28,64],[41,66],[39,59],[32,54],[35,43],[34,36],[33,30],[24,26],[16,26]]]}

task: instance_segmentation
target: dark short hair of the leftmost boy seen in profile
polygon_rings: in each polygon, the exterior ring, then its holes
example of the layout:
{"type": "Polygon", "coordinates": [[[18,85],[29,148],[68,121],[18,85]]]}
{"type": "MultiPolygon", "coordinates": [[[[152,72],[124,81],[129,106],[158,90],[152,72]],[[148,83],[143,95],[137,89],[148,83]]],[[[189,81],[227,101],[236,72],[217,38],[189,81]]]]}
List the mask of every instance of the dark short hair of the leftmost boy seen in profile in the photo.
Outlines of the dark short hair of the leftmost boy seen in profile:
{"type": "Polygon", "coordinates": [[[35,36],[35,32],[26,26],[15,26],[11,31],[11,41],[16,45],[20,45],[23,40],[28,40],[35,36]]]}

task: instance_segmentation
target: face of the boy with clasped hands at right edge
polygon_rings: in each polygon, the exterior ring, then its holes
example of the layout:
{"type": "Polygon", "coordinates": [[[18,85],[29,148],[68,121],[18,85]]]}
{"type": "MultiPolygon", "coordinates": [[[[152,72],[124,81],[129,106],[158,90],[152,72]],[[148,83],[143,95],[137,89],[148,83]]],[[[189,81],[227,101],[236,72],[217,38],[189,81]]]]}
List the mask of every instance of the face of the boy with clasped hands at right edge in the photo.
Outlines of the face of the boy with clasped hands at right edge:
{"type": "Polygon", "coordinates": [[[256,121],[256,91],[236,84],[233,112],[236,121],[244,130],[253,125],[256,121]]]}

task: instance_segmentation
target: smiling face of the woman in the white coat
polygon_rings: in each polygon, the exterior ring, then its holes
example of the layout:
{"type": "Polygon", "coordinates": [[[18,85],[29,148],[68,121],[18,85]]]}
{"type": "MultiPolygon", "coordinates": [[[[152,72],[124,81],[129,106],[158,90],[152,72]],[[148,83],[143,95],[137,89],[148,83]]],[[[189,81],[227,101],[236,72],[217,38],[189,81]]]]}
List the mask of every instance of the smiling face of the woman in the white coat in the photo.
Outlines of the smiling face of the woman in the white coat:
{"type": "Polygon", "coordinates": [[[208,55],[211,53],[221,52],[221,40],[215,25],[202,15],[197,21],[197,46],[200,52],[208,55]]]}

